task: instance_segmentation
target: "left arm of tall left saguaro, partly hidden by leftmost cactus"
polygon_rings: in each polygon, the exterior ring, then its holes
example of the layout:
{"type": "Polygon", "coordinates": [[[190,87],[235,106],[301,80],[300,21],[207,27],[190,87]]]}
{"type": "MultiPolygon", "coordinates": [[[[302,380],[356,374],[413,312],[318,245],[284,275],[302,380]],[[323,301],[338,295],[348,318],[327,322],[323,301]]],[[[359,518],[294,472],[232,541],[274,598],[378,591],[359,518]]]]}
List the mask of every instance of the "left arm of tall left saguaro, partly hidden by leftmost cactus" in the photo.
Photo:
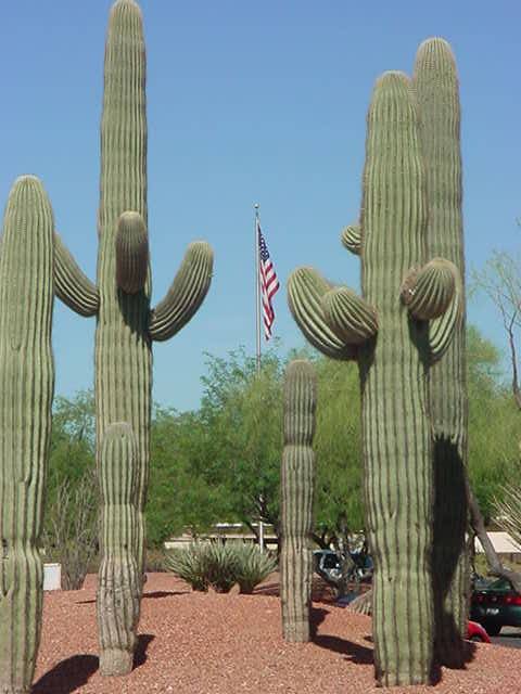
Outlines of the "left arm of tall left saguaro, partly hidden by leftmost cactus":
{"type": "Polygon", "coordinates": [[[58,298],[79,316],[96,316],[100,307],[98,287],[80,270],[54,231],[54,286],[58,298]]]}

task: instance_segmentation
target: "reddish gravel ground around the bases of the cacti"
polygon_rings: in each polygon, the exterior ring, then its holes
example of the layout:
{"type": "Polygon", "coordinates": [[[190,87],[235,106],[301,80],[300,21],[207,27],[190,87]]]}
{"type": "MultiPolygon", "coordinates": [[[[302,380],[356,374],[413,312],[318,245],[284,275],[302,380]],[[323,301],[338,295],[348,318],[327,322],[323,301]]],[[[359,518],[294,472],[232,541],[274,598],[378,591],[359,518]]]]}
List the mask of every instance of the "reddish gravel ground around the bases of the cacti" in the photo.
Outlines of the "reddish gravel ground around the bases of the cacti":
{"type": "Polygon", "coordinates": [[[254,595],[191,592],[150,574],[136,667],[126,678],[98,672],[96,577],[80,591],[47,593],[34,694],[513,694],[521,650],[469,644],[466,670],[443,669],[434,687],[374,686],[370,618],[314,602],[313,643],[281,638],[277,577],[254,595]]]}

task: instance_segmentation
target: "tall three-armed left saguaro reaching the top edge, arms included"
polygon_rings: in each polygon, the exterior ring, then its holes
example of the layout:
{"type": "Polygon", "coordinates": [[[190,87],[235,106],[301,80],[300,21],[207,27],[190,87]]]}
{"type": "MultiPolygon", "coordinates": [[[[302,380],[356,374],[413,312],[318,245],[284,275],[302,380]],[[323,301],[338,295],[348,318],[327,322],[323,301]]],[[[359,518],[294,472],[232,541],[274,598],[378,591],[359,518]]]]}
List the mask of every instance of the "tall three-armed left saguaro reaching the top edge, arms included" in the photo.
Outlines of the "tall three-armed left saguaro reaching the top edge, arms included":
{"type": "MultiPolygon", "coordinates": [[[[150,310],[145,51],[141,12],[134,0],[117,0],[109,23],[101,124],[99,240],[98,286],[94,286],[56,236],[56,293],[78,313],[98,317],[98,467],[101,467],[106,432],[113,424],[127,423],[136,438],[137,532],[134,550],[142,575],[152,340],[175,335],[201,306],[209,287],[213,254],[206,243],[192,243],[166,297],[150,310]]],[[[114,590],[118,590],[116,586],[114,590]]],[[[134,600],[129,592],[124,591],[122,595],[127,595],[130,602],[134,600]]],[[[105,597],[103,601],[106,602],[105,597]]],[[[129,605],[127,613],[132,608],[129,605]]],[[[102,609],[99,615],[102,620],[102,609]]],[[[123,608],[122,620],[125,621],[123,608]]],[[[103,648],[105,641],[101,634],[100,640],[103,648]]],[[[130,641],[125,637],[120,644],[119,666],[116,665],[115,648],[111,648],[107,670],[114,674],[128,672],[131,667],[130,641]]]]}

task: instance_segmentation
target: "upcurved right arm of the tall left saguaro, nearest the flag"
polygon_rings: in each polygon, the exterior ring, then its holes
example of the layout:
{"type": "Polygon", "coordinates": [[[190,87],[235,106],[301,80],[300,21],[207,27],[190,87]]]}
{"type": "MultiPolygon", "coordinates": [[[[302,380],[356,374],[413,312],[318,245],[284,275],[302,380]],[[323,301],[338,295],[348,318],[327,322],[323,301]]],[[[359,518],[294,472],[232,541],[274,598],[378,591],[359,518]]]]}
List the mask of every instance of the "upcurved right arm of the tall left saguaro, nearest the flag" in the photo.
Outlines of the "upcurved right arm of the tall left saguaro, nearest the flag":
{"type": "Polygon", "coordinates": [[[149,333],[155,342],[169,339],[194,316],[212,281],[214,255],[203,241],[191,243],[165,298],[152,311],[149,333]]]}

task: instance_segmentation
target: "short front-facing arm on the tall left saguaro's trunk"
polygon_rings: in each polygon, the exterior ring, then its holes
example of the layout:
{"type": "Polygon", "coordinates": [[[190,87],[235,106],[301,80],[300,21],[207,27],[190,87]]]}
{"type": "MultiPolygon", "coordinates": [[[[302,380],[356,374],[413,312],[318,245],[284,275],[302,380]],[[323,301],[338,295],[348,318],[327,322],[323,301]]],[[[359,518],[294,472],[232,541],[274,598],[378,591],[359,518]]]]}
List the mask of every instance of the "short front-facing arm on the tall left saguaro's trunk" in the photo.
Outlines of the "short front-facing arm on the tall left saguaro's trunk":
{"type": "Polygon", "coordinates": [[[139,213],[126,211],[117,220],[116,284],[127,294],[144,287],[149,272],[149,239],[139,213]]]}

